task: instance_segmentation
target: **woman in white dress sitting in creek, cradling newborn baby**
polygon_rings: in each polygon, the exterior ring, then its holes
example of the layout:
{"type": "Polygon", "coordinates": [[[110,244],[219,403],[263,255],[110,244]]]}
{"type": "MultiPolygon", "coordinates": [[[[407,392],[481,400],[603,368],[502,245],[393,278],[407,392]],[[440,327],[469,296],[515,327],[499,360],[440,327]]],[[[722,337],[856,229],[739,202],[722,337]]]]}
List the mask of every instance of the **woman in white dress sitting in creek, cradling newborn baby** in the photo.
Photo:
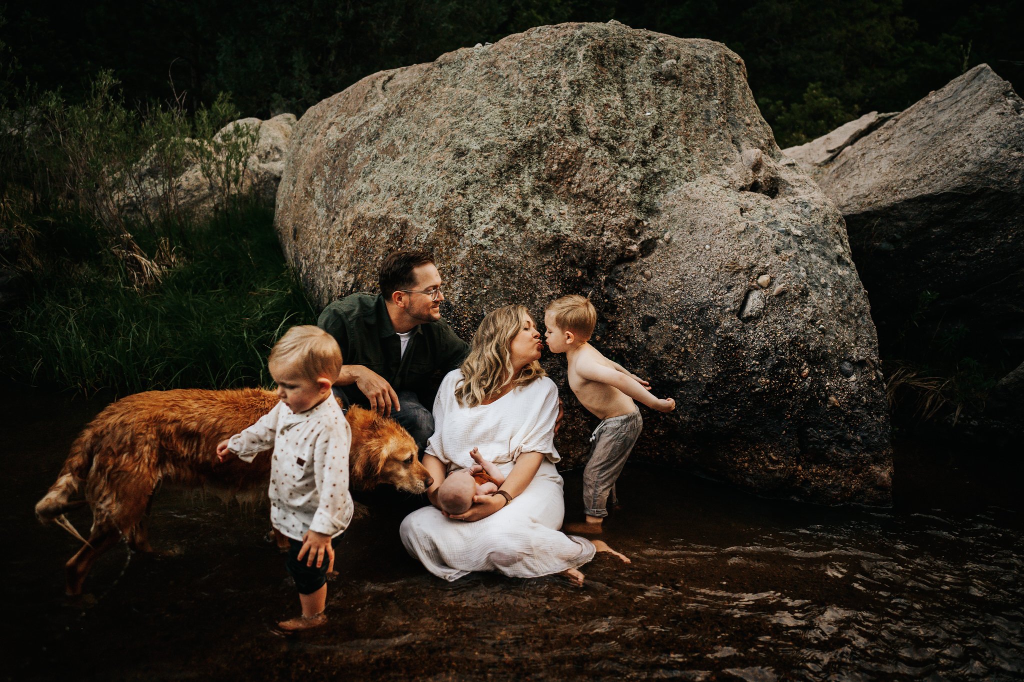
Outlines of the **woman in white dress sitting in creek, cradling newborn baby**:
{"type": "Polygon", "coordinates": [[[582,585],[578,568],[595,551],[612,552],[601,541],[558,530],[565,514],[555,468],[558,388],[538,363],[543,347],[525,307],[499,308],[480,323],[462,368],[441,382],[423,456],[434,479],[427,491],[432,506],[407,516],[400,529],[409,553],[438,578],[454,581],[472,570],[563,573],[582,585]],[[449,515],[437,506],[437,488],[447,474],[473,466],[474,447],[505,482],[494,495],[474,497],[467,512],[449,515]]]}

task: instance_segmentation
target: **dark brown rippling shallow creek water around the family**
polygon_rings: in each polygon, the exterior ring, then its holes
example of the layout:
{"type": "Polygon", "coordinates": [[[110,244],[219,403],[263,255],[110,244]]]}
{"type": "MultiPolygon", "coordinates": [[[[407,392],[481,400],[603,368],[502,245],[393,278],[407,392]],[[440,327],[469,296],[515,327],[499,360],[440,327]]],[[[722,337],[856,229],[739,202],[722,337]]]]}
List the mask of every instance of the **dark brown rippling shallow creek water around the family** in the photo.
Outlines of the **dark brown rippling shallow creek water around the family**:
{"type": "MultiPolygon", "coordinates": [[[[91,597],[62,597],[78,543],[33,506],[102,404],[24,391],[3,485],[6,679],[1024,679],[1024,469],[986,472],[899,449],[896,507],[762,500],[630,464],[625,508],[583,588],[428,574],[398,540],[419,503],[377,492],[339,545],[327,627],[276,634],[298,603],[265,507],[161,491],[152,539],[96,565],[91,597]],[[971,480],[965,480],[970,478],[971,480]]],[[[565,474],[579,520],[581,472],[565,474]]],[[[85,531],[87,511],[72,520],[85,531]]]]}

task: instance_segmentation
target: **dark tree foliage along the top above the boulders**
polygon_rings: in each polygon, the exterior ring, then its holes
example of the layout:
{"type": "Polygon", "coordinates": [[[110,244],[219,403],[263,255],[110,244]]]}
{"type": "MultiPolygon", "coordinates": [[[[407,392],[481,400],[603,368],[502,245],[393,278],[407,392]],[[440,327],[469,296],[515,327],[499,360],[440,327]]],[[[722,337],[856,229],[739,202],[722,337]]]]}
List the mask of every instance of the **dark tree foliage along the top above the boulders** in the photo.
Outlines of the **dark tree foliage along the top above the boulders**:
{"type": "Polygon", "coordinates": [[[718,40],[746,61],[784,146],[871,110],[899,111],[987,61],[1018,83],[1015,3],[949,0],[154,0],[8,6],[0,42],[43,89],[87,95],[113,70],[129,101],[234,94],[267,117],[306,108],[380,71],[532,26],[616,18],[718,40]],[[173,86],[171,85],[173,84],[173,86]]]}

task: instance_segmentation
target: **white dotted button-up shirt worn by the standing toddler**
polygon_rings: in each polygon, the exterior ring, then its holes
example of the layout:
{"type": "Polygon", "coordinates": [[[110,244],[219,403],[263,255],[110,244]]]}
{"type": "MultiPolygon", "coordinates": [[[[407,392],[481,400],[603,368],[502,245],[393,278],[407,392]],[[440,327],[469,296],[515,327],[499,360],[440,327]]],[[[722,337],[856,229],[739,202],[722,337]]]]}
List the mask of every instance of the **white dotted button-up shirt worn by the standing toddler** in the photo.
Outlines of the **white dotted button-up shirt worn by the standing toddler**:
{"type": "Polygon", "coordinates": [[[352,519],[348,451],[352,431],[337,400],[295,414],[284,402],[231,436],[228,450],[252,462],[273,447],[270,465],[270,522],[293,540],[306,530],[337,536],[352,519]]]}

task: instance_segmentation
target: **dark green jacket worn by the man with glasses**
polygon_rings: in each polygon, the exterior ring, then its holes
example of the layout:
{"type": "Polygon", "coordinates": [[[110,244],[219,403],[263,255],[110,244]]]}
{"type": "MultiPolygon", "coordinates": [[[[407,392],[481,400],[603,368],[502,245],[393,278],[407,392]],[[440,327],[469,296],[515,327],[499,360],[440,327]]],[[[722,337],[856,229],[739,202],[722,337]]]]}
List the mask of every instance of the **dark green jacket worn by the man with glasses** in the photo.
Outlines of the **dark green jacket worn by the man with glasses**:
{"type": "MultiPolygon", "coordinates": [[[[416,391],[429,410],[440,379],[466,358],[469,344],[443,319],[413,328],[406,354],[388,317],[383,296],[352,294],[324,308],[316,325],[341,347],[345,365],[364,365],[391,384],[395,391],[416,391]]],[[[369,406],[362,392],[342,386],[350,402],[369,406]]]]}

